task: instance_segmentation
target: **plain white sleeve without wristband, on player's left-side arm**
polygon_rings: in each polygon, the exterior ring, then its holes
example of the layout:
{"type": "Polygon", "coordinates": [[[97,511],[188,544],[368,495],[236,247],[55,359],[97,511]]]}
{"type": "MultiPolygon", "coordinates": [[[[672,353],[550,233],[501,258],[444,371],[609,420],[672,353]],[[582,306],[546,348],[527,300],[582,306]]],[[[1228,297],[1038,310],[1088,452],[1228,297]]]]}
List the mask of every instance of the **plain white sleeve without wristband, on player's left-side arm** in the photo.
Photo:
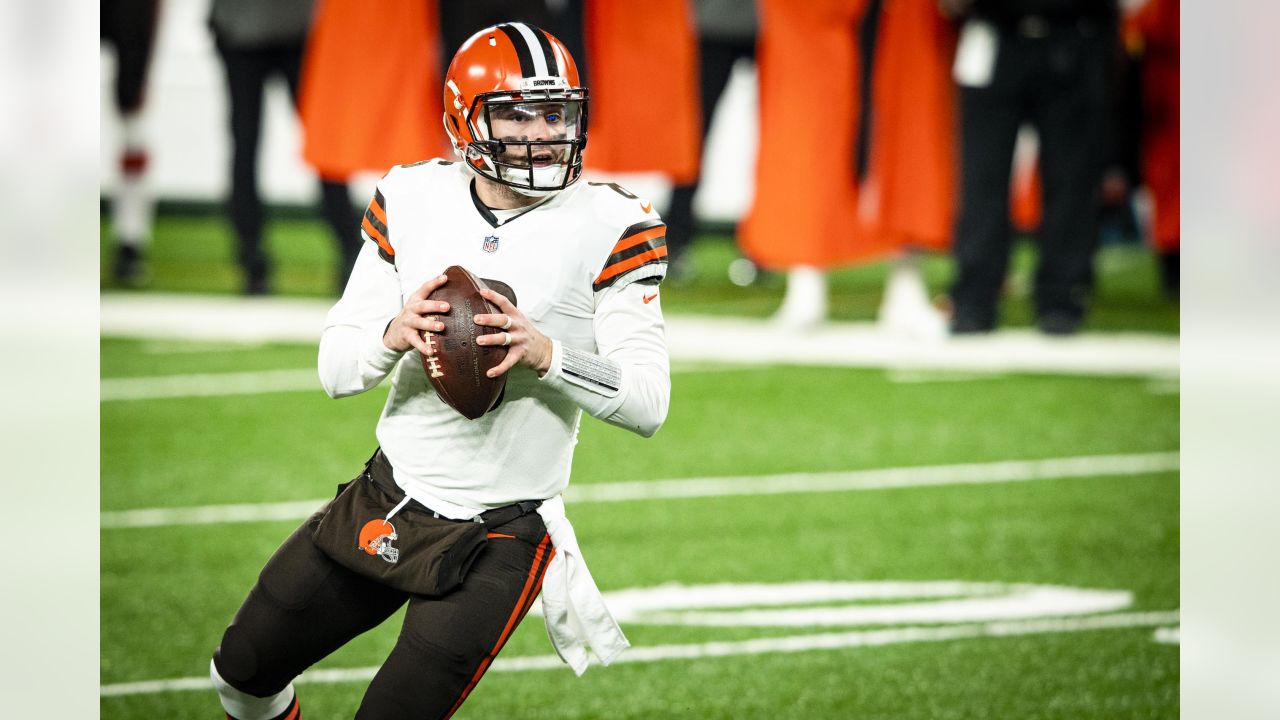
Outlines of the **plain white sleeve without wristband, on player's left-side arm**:
{"type": "Polygon", "coordinates": [[[396,266],[378,255],[376,243],[365,242],[320,336],[320,384],[329,397],[365,392],[396,366],[404,354],[383,345],[383,333],[401,307],[396,266]]]}

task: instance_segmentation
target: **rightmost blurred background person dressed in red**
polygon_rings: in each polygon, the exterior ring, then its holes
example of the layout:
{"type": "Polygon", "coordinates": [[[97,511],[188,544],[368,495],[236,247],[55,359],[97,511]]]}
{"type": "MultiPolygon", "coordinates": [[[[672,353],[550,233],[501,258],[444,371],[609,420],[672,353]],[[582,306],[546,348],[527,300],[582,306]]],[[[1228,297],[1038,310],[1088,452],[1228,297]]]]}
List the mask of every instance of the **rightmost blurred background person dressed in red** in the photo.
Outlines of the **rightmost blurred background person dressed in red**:
{"type": "Polygon", "coordinates": [[[1148,242],[1156,252],[1161,290],[1178,299],[1181,249],[1179,3],[1146,0],[1126,10],[1125,47],[1137,61],[1140,95],[1140,182],[1149,193],[1153,214],[1148,222],[1148,242]]]}

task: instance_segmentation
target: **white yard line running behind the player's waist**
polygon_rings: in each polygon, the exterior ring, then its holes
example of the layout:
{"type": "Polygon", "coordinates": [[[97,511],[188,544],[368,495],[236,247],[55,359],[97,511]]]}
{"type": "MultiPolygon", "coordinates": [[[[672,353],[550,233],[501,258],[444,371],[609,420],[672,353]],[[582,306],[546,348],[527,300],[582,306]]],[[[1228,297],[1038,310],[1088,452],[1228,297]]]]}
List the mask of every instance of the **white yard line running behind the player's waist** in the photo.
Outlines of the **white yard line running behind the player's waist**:
{"type": "MultiPolygon", "coordinates": [[[[1009,460],[964,465],[925,465],[883,468],[842,473],[786,473],[781,475],[740,475],[682,478],[580,484],[570,487],[566,501],[623,502],[631,500],[676,500],[741,495],[788,495],[808,492],[856,492],[888,488],[938,487],[983,483],[1019,483],[1101,475],[1146,475],[1172,473],[1179,466],[1178,452],[1134,455],[1091,455],[1047,460],[1009,460]]],[[[251,505],[205,505],[197,507],[155,507],[102,512],[102,529],[155,528],[161,525],[202,525],[215,523],[255,523],[262,520],[301,520],[325,498],[251,505]]]]}

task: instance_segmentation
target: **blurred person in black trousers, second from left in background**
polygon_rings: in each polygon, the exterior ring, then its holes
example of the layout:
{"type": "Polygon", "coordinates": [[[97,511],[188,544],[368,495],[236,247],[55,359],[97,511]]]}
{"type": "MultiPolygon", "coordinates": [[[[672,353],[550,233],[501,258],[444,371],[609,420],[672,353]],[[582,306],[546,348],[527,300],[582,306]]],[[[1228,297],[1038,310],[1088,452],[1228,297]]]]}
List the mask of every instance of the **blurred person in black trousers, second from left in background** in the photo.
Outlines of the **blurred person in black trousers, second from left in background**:
{"type": "MultiPolygon", "coordinates": [[[[297,105],[302,51],[311,26],[311,13],[312,0],[212,1],[209,24],[227,70],[230,97],[230,215],[246,295],[266,295],[271,291],[271,261],[262,245],[264,209],[257,190],[262,92],[268,79],[282,78],[288,83],[289,95],[297,105]]],[[[351,38],[347,41],[352,42],[351,38]]],[[[367,113],[367,108],[365,105],[362,110],[367,113]]],[[[321,214],[338,247],[339,290],[346,279],[346,269],[360,250],[360,233],[356,229],[358,215],[343,177],[320,176],[321,214]]]]}

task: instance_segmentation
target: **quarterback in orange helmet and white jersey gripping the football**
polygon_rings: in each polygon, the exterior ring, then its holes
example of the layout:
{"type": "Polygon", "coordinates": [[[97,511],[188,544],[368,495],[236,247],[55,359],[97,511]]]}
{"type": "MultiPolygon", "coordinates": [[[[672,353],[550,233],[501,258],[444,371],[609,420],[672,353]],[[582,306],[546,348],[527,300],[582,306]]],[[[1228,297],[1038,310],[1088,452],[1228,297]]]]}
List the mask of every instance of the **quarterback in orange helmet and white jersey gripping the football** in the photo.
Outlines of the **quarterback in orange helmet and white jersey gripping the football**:
{"type": "MultiPolygon", "coordinates": [[[[293,680],[407,603],[361,719],[448,717],[541,593],[552,644],[579,674],[627,647],[564,515],[582,411],[649,437],[671,379],[653,206],[582,179],[588,92],[564,45],[524,23],[454,55],[444,126],[457,158],[392,168],[320,341],[332,397],[390,380],[379,448],[266,562],[214,652],[238,720],[301,717],[293,680]],[[492,410],[468,420],[422,369],[461,265],[509,293],[477,325],[507,346],[492,410]]],[[[554,711],[549,710],[549,715],[554,711]]]]}

